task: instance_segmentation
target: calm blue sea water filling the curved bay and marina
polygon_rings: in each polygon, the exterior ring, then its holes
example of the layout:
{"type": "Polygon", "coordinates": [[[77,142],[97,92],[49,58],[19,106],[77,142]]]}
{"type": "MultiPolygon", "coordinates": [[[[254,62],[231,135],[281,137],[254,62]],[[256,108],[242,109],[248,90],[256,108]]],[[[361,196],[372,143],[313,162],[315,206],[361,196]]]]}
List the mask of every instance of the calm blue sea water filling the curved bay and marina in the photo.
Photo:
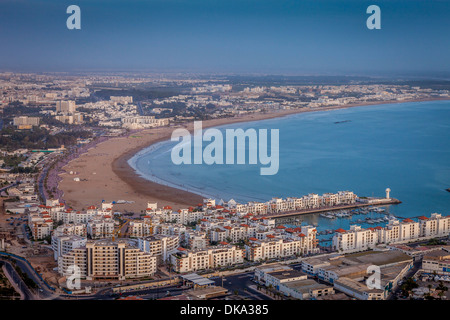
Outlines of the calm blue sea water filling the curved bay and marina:
{"type": "MultiPolygon", "coordinates": [[[[397,216],[449,214],[450,101],[318,111],[219,127],[226,128],[279,129],[278,173],[261,176],[261,165],[174,165],[170,151],[176,142],[170,141],[142,150],[129,163],[147,179],[216,199],[244,203],[339,190],[384,196],[389,187],[391,197],[403,202],[388,208],[397,216]]],[[[352,223],[318,215],[305,219],[321,229],[352,223]]]]}

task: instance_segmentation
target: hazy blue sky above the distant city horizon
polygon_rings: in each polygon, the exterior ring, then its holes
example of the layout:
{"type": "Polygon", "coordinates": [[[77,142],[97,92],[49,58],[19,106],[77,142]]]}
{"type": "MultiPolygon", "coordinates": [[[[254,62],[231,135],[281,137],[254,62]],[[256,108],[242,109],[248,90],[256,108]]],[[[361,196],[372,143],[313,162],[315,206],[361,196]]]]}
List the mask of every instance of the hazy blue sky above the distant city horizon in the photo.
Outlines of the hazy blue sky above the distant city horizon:
{"type": "Polygon", "coordinates": [[[0,0],[0,69],[450,72],[449,21],[437,0],[0,0]]]}

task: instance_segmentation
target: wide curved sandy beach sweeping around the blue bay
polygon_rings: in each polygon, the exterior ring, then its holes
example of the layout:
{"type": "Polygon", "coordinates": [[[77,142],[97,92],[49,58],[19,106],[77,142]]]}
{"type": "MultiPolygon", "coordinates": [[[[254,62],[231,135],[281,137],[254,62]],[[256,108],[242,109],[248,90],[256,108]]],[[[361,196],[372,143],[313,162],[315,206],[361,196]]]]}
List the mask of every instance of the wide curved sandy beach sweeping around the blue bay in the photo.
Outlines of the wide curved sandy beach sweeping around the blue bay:
{"type": "MultiPolygon", "coordinates": [[[[426,99],[420,101],[430,100],[448,99],[426,99]]],[[[346,106],[253,113],[234,118],[206,120],[203,121],[203,128],[272,119],[303,112],[414,101],[378,101],[346,106]]],[[[156,202],[158,203],[158,207],[169,205],[175,210],[201,203],[203,200],[202,196],[148,181],[137,175],[127,163],[139,150],[154,143],[170,139],[173,130],[178,127],[184,127],[193,131],[192,122],[183,126],[145,129],[131,134],[128,137],[110,138],[69,162],[62,168],[65,172],[60,174],[62,180],[59,183],[59,189],[63,192],[63,198],[66,204],[76,210],[82,210],[90,205],[99,206],[102,200],[107,202],[125,200],[132,203],[117,204],[115,208],[118,211],[141,212],[147,208],[148,202],[156,202]],[[70,171],[76,172],[76,174],[69,174],[70,171]],[[74,181],[75,177],[79,178],[80,181],[74,181]]]]}

